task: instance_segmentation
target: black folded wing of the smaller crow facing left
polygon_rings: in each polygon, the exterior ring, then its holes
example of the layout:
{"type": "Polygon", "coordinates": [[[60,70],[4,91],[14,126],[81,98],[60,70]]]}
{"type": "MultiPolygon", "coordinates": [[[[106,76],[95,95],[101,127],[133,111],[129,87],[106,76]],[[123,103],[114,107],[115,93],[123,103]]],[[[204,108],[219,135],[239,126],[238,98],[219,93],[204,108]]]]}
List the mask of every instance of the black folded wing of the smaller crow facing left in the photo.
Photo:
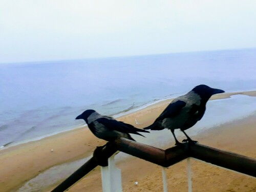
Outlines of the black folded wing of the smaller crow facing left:
{"type": "MultiPolygon", "coordinates": [[[[115,119],[106,119],[106,118],[99,118],[96,121],[103,124],[104,126],[108,127],[109,130],[116,130],[122,133],[132,133],[136,135],[141,135],[137,132],[145,132],[149,133],[148,131],[137,129],[133,125],[126,124],[115,119]]],[[[143,136],[143,135],[141,135],[143,136]]],[[[143,136],[144,137],[144,136],[143,136]]]]}

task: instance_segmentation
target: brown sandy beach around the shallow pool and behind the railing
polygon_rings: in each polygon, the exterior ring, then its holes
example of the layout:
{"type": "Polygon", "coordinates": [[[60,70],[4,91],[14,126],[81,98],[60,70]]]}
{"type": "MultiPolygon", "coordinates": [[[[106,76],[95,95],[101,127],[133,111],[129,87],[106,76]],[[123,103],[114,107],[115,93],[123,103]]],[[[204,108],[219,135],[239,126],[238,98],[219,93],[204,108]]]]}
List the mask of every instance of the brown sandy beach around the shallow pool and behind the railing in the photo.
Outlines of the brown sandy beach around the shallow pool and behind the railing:
{"type": "MultiPolygon", "coordinates": [[[[256,91],[225,93],[215,95],[211,99],[224,99],[236,94],[251,97],[256,96],[256,91]]],[[[171,100],[158,102],[117,119],[142,128],[152,123],[171,100]],[[135,117],[143,124],[136,124],[135,117]]],[[[252,114],[249,117],[201,132],[193,139],[204,145],[256,158],[255,123],[256,114],[252,114]]],[[[170,138],[172,138],[171,134],[170,138]]],[[[182,136],[178,139],[183,138],[182,136]]],[[[44,170],[54,165],[88,157],[92,155],[96,146],[104,143],[105,141],[96,138],[88,129],[82,127],[0,150],[0,191],[16,191],[26,181],[44,170]]],[[[166,147],[172,145],[174,145],[173,138],[170,143],[166,144],[166,147]]],[[[193,191],[256,191],[255,178],[203,162],[195,160],[191,162],[193,191]]],[[[123,191],[162,191],[160,166],[134,157],[125,158],[118,162],[117,166],[122,170],[123,191]],[[133,184],[135,181],[138,185],[133,184]]],[[[166,174],[170,191],[187,191],[186,161],[167,168],[166,174]]],[[[48,190],[53,187],[49,186],[48,190]]],[[[99,167],[76,183],[69,191],[101,191],[99,167]]]]}

